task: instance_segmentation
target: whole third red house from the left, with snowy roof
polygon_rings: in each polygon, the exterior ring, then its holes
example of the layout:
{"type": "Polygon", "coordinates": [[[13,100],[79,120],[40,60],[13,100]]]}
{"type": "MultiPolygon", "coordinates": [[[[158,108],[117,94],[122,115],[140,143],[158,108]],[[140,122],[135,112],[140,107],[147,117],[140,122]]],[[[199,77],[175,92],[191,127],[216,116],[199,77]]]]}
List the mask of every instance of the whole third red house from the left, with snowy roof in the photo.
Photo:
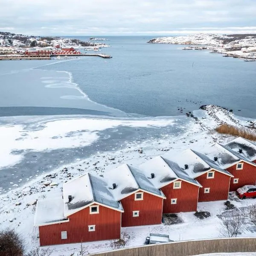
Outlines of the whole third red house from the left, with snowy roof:
{"type": "Polygon", "coordinates": [[[195,212],[198,192],[202,187],[174,163],[161,156],[155,157],[140,166],[155,187],[166,196],[163,213],[195,212]]]}

